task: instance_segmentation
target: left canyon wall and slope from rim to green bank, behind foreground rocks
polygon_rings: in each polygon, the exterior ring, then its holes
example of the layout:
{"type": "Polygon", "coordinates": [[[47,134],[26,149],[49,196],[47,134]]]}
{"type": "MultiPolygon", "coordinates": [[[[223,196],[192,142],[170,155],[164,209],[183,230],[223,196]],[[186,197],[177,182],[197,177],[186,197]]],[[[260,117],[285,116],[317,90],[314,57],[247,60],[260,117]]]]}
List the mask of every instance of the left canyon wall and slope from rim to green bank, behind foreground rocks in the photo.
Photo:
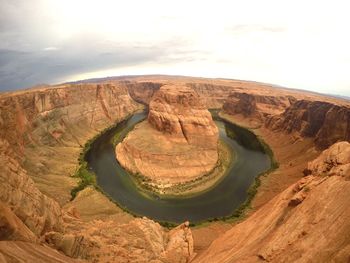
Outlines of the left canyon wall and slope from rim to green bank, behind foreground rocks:
{"type": "Polygon", "coordinates": [[[85,142],[139,106],[125,87],[74,84],[0,96],[0,138],[44,194],[70,199],[85,142]]]}

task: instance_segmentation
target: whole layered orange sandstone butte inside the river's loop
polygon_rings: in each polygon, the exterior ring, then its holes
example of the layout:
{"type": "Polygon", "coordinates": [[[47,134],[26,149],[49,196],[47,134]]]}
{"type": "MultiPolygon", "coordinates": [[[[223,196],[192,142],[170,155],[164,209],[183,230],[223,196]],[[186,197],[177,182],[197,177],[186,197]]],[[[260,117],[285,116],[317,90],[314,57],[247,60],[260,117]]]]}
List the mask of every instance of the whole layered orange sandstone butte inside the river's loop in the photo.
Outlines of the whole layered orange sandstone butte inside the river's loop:
{"type": "Polygon", "coordinates": [[[218,128],[191,88],[164,85],[152,97],[147,121],[116,147],[120,164],[157,186],[208,174],[218,161],[218,128]]]}

